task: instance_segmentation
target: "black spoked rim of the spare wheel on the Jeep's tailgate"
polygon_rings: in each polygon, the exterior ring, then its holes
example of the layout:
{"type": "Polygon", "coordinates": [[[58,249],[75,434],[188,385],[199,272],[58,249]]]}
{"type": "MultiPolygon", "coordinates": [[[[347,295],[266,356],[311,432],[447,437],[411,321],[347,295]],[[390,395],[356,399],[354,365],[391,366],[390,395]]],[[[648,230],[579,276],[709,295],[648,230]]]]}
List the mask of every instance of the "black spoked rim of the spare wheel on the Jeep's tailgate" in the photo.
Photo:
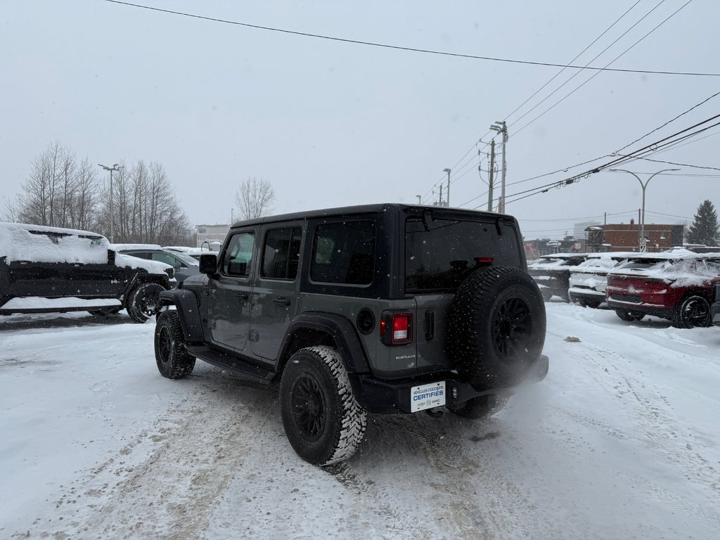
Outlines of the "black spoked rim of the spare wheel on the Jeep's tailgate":
{"type": "Polygon", "coordinates": [[[492,320],[492,343],[495,352],[506,361],[526,351],[532,334],[530,308],[520,298],[505,300],[492,320]]]}

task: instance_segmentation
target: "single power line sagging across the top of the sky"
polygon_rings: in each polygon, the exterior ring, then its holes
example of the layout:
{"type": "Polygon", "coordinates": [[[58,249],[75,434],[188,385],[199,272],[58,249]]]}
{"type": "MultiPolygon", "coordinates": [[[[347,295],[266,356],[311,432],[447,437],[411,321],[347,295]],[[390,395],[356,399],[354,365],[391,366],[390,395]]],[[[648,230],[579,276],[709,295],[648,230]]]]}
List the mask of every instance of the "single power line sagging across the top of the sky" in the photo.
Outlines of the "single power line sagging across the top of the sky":
{"type": "Polygon", "coordinates": [[[231,21],[229,19],[218,19],[217,17],[205,17],[203,15],[196,15],[196,14],[185,13],[185,12],[176,12],[171,9],[161,9],[158,7],[143,6],[141,4],[132,4],[130,2],[124,2],[124,1],[120,1],[120,0],[105,0],[105,1],[111,2],[112,4],[121,4],[123,6],[137,7],[137,8],[141,8],[141,9],[149,9],[150,11],[154,11],[154,12],[162,12],[162,13],[180,15],[181,17],[191,17],[193,19],[202,19],[202,20],[212,21],[212,22],[221,22],[224,24],[235,24],[236,26],[242,26],[242,27],[246,27],[246,28],[255,28],[256,30],[266,30],[268,32],[282,32],[284,34],[299,35],[299,36],[303,36],[303,37],[315,37],[315,38],[321,39],[321,40],[352,43],[354,45],[367,45],[370,47],[379,47],[379,48],[385,48],[385,49],[405,50],[405,51],[408,51],[411,53],[424,53],[424,54],[431,54],[431,55],[451,56],[454,58],[468,58],[470,60],[487,60],[487,61],[491,61],[491,62],[524,64],[527,66],[547,66],[547,67],[551,67],[551,68],[590,69],[590,70],[598,71],[598,72],[599,71],[614,71],[617,73],[645,73],[647,75],[720,77],[720,73],[695,73],[695,72],[686,72],[686,71],[654,71],[654,70],[649,70],[649,69],[621,69],[621,68],[607,68],[607,67],[600,68],[600,67],[594,67],[594,66],[574,66],[572,64],[560,64],[560,63],[552,63],[552,62],[534,62],[531,60],[516,60],[513,58],[498,58],[498,57],[492,57],[492,56],[469,55],[469,54],[462,54],[462,53],[449,53],[449,52],[441,51],[441,50],[402,47],[400,45],[387,45],[386,43],[377,43],[377,42],[372,42],[372,41],[350,40],[345,37],[334,37],[334,36],[328,36],[328,35],[322,35],[322,34],[312,34],[310,32],[297,32],[296,30],[284,30],[282,28],[261,26],[259,24],[249,24],[247,22],[231,21]]]}

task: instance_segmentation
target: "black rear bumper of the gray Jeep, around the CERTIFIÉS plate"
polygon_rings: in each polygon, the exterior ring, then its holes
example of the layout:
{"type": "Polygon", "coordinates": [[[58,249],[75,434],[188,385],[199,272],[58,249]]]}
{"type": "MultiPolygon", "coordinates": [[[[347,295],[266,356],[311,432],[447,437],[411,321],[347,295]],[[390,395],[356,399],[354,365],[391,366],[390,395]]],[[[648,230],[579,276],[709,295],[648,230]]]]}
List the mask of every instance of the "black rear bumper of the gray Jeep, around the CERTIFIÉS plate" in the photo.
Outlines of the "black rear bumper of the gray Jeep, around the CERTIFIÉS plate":
{"type": "MultiPolygon", "coordinates": [[[[549,359],[540,355],[528,373],[526,382],[543,380],[549,369],[549,359]]],[[[378,379],[372,375],[348,374],[356,400],[369,413],[411,414],[411,389],[421,384],[445,381],[446,405],[462,405],[473,397],[491,394],[512,394],[512,388],[475,390],[453,372],[413,377],[413,379],[378,379]]]]}

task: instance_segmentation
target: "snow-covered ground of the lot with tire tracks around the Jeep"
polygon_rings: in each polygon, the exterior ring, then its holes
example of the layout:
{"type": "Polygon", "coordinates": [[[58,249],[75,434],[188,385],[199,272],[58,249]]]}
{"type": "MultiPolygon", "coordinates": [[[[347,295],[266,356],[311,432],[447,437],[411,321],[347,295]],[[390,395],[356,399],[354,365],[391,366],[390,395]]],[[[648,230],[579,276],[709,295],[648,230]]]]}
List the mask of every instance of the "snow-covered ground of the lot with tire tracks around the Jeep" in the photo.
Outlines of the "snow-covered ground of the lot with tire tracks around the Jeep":
{"type": "Polygon", "coordinates": [[[276,390],[163,379],[152,322],[1,318],[0,538],[720,538],[720,328],[547,312],[544,382],[489,420],[371,415],[330,469],[276,390]]]}

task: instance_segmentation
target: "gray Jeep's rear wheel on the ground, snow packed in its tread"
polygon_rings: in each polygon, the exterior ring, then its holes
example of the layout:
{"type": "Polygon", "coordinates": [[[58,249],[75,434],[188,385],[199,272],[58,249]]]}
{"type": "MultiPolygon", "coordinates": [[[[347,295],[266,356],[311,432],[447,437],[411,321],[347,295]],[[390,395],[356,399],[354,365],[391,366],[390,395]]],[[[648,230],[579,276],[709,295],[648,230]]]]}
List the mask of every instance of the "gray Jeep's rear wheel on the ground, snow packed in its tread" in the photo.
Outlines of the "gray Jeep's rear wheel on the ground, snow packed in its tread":
{"type": "Polygon", "coordinates": [[[280,381],[280,413],[297,454],[330,465],[355,453],[367,414],[355,400],[343,361],[334,348],[315,346],[293,354],[280,381]]]}

